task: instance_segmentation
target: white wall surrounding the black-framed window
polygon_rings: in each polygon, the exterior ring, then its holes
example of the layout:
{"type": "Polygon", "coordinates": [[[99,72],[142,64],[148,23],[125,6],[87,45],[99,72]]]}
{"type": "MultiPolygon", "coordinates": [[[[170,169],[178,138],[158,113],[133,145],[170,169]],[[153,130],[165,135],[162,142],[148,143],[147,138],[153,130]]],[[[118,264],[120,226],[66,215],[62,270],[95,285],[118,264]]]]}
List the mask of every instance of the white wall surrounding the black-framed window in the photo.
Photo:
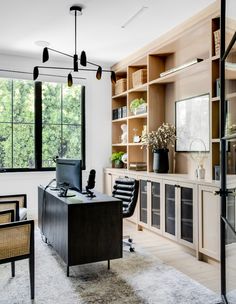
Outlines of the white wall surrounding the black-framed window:
{"type": "MultiPolygon", "coordinates": [[[[68,62],[50,62],[50,65],[68,66],[68,62]]],[[[0,55],[0,69],[32,72],[39,60],[0,55]]],[[[61,74],[62,75],[62,74],[61,74]]],[[[82,75],[81,75],[82,76],[82,75]]],[[[31,76],[0,72],[0,77],[32,79],[31,76]]],[[[111,84],[110,75],[104,74],[102,80],[90,72],[82,84],[86,87],[86,171],[83,171],[83,185],[88,173],[95,169],[96,190],[103,191],[103,168],[110,166],[111,154],[111,84]]],[[[49,78],[44,79],[49,81],[49,78]]],[[[61,79],[51,79],[61,81],[61,79]]],[[[55,172],[0,173],[0,194],[26,193],[30,216],[37,217],[37,186],[46,185],[55,172]]]]}

